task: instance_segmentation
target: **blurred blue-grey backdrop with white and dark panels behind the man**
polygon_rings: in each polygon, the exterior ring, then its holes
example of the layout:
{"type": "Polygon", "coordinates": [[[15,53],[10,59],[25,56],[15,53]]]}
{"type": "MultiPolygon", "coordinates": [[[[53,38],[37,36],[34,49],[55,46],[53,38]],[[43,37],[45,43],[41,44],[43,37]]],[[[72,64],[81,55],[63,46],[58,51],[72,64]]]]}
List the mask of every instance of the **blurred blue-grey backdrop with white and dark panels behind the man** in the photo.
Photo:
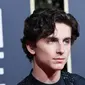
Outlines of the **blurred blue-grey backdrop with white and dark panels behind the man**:
{"type": "Polygon", "coordinates": [[[32,65],[24,54],[20,39],[24,20],[39,7],[58,7],[79,22],[80,37],[72,46],[63,70],[85,77],[85,0],[0,0],[0,85],[17,85],[32,65]]]}

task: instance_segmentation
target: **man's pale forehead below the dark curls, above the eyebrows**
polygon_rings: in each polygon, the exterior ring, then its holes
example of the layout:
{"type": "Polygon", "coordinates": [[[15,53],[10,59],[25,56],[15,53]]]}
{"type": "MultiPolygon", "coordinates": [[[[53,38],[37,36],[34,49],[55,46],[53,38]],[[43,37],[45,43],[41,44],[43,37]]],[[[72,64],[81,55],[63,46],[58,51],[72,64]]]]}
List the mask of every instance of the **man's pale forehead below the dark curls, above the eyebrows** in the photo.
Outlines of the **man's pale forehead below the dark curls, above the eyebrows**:
{"type": "Polygon", "coordinates": [[[71,37],[71,27],[64,23],[55,23],[54,33],[50,37],[66,38],[71,37]]]}

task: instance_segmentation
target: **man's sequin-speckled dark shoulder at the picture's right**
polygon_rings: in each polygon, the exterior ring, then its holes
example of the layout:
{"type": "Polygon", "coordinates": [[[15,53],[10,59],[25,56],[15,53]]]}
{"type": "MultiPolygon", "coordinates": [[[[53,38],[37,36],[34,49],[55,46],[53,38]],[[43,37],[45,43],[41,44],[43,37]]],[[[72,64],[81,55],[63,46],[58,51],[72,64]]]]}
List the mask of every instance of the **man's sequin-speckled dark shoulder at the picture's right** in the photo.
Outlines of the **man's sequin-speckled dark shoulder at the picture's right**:
{"type": "Polygon", "coordinates": [[[85,78],[78,74],[62,72],[62,76],[65,79],[68,79],[70,82],[74,82],[75,83],[74,85],[85,85],[85,78]]]}

